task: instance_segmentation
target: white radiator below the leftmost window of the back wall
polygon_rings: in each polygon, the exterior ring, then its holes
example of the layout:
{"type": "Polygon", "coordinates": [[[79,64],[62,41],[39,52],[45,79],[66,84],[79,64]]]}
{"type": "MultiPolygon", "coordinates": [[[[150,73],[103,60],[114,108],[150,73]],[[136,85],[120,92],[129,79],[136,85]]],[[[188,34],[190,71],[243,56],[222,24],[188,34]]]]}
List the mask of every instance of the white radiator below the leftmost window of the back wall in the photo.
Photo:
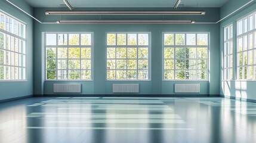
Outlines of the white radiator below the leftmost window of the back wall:
{"type": "Polygon", "coordinates": [[[80,83],[54,83],[54,93],[81,93],[80,83]]]}

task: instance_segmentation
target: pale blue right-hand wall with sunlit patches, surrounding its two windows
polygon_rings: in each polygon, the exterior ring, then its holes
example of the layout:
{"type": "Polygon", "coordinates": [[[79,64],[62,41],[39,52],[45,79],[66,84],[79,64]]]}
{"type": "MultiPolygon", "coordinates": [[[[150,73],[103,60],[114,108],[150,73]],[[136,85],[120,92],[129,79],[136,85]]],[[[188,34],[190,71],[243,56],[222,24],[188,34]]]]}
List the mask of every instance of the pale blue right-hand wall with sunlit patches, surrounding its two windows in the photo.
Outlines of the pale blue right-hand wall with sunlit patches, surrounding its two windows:
{"type": "MultiPolygon", "coordinates": [[[[236,10],[236,8],[242,5],[244,5],[248,1],[229,1],[224,7],[221,8],[221,15],[223,17],[225,14],[232,13],[232,10],[236,10]],[[234,4],[236,3],[236,4],[234,4]],[[229,7],[227,5],[230,5],[229,7]]],[[[248,7],[243,8],[238,13],[233,14],[231,17],[221,21],[220,23],[220,54],[223,56],[223,28],[229,24],[233,23],[233,52],[236,53],[236,20],[239,18],[242,18],[243,16],[252,13],[256,10],[256,1],[252,2],[248,5],[248,7]]],[[[236,54],[234,56],[233,61],[233,71],[236,75],[236,54]]],[[[221,60],[222,62],[222,60],[221,60]]],[[[221,68],[222,69],[222,68],[221,68]]],[[[221,70],[222,74],[223,70],[221,70]]],[[[236,79],[236,77],[235,77],[236,79]]],[[[231,96],[235,98],[245,98],[250,100],[256,100],[256,94],[255,94],[255,87],[256,87],[256,81],[221,81],[220,85],[220,94],[231,96]]]]}

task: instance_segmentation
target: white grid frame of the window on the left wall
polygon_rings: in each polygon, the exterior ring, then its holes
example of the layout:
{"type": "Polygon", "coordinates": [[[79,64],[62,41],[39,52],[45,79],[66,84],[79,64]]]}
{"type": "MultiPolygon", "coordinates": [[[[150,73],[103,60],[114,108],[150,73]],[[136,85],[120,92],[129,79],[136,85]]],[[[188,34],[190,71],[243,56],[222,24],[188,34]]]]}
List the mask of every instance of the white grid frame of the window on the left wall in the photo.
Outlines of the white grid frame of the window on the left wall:
{"type": "MultiPolygon", "coordinates": [[[[0,78],[0,82],[19,82],[19,81],[27,81],[27,68],[26,68],[26,23],[21,20],[18,20],[16,17],[5,13],[4,11],[0,10],[0,18],[4,16],[4,29],[0,29],[0,32],[4,34],[4,49],[0,48],[0,52],[4,52],[4,64],[0,63],[0,68],[4,67],[4,79],[0,78]],[[8,18],[8,25],[7,25],[7,18],[8,18]],[[10,24],[10,20],[14,23],[14,20],[17,21],[17,33],[14,33],[14,24],[10,24]],[[23,29],[21,29],[21,25],[23,29]],[[8,29],[7,29],[8,26],[8,29]],[[12,32],[9,31],[11,28],[13,29],[12,32]],[[6,38],[9,36],[8,46],[7,49],[7,42],[6,38]],[[11,43],[11,39],[15,41],[17,39],[17,49],[15,49],[15,43],[11,43]],[[23,51],[21,49],[21,41],[23,41],[23,51]],[[13,48],[11,48],[13,46],[13,48]],[[8,54],[8,63],[7,62],[7,54],[8,54]],[[12,57],[13,55],[13,57],[12,57]],[[17,57],[17,58],[16,58],[17,57]],[[22,59],[23,57],[23,59],[22,59]],[[16,61],[17,60],[17,61],[16,61]],[[23,61],[23,62],[22,62],[23,61]],[[13,64],[11,64],[13,63],[13,64]],[[17,63],[17,64],[16,64],[17,63]],[[8,68],[7,68],[8,67],[8,68]],[[12,69],[12,72],[11,70],[12,69]],[[22,70],[23,69],[23,70],[22,70]],[[15,74],[17,72],[17,74],[15,74]],[[8,79],[7,79],[8,73],[8,79]]],[[[1,53],[0,53],[1,54],[1,53]]]]}

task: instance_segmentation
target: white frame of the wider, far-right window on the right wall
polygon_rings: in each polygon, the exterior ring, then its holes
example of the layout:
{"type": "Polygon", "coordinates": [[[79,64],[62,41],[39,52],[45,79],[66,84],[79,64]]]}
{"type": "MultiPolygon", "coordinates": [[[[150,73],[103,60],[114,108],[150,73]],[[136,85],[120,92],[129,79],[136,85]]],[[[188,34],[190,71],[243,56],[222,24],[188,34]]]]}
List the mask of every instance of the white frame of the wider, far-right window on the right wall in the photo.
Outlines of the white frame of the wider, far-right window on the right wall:
{"type": "Polygon", "coordinates": [[[256,80],[256,11],[248,14],[236,21],[236,80],[256,80]],[[249,17],[252,16],[252,30],[249,30],[249,17]],[[245,31],[245,22],[247,19],[247,31],[245,31]],[[242,21],[242,33],[239,35],[239,25],[238,23],[242,21]],[[249,48],[249,36],[252,35],[252,48],[249,48]],[[247,36],[247,41],[244,38],[247,36]],[[242,51],[239,51],[239,39],[242,38],[242,51]],[[247,49],[244,49],[244,45],[247,45],[247,49]],[[250,52],[252,51],[252,64],[249,63],[250,52]],[[239,54],[242,54],[242,65],[239,62],[239,54]],[[247,54],[247,59],[245,64],[245,54],[247,54]],[[240,78],[240,69],[242,69],[242,78],[240,78]],[[250,70],[252,69],[252,78],[250,77],[250,70]],[[246,72],[245,72],[246,71],[246,72]],[[245,79],[246,76],[246,79],[245,79]]]}

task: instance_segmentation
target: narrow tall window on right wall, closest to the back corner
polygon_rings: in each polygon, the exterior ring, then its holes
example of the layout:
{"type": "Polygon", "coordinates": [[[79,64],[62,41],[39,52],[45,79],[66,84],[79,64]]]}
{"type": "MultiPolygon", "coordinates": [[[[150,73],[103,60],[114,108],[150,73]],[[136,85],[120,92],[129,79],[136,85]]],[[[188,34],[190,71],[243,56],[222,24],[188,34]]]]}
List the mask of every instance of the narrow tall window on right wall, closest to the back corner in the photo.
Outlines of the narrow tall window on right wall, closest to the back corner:
{"type": "Polygon", "coordinates": [[[233,25],[224,27],[224,80],[233,79],[233,25]]]}

